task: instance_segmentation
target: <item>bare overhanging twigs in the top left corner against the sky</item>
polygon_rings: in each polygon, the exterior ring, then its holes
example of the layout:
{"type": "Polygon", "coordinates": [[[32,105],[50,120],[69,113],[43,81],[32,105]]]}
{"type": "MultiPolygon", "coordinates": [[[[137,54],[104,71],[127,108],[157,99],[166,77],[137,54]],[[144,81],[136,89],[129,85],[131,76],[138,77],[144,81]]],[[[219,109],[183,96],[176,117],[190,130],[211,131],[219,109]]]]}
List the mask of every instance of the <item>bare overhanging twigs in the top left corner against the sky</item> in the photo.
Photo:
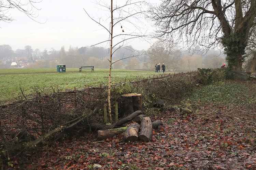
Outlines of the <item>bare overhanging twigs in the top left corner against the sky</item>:
{"type": "Polygon", "coordinates": [[[35,18],[38,16],[36,11],[41,10],[37,8],[35,4],[41,1],[42,0],[0,0],[0,21],[13,21],[13,17],[9,13],[11,9],[16,9],[35,21],[35,18]]]}

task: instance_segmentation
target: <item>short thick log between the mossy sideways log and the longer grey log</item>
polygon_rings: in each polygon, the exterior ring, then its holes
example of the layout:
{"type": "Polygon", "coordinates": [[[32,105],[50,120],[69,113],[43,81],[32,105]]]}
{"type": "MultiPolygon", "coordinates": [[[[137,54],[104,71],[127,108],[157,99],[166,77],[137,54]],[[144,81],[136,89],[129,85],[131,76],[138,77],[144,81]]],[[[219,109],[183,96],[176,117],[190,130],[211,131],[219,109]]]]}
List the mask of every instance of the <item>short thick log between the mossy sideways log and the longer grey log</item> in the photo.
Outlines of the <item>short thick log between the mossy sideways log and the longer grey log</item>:
{"type": "Polygon", "coordinates": [[[138,123],[133,123],[131,124],[127,130],[124,132],[124,141],[125,142],[134,142],[138,140],[138,133],[140,130],[140,125],[138,123]]]}

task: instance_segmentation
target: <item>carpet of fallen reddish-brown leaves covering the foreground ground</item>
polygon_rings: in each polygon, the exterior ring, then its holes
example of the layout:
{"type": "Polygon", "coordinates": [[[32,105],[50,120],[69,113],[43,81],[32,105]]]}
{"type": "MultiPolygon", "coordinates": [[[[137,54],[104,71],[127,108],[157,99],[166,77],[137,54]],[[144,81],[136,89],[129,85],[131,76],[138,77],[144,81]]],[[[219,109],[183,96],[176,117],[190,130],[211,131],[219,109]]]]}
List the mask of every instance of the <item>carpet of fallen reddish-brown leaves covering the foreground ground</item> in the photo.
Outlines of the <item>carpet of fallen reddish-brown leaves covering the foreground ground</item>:
{"type": "MultiPolygon", "coordinates": [[[[164,125],[151,142],[124,143],[122,136],[93,142],[86,134],[37,154],[24,153],[27,169],[256,169],[254,105],[202,105],[193,114],[164,112],[152,116],[164,125]]],[[[23,160],[24,161],[24,160],[23,160]]]]}

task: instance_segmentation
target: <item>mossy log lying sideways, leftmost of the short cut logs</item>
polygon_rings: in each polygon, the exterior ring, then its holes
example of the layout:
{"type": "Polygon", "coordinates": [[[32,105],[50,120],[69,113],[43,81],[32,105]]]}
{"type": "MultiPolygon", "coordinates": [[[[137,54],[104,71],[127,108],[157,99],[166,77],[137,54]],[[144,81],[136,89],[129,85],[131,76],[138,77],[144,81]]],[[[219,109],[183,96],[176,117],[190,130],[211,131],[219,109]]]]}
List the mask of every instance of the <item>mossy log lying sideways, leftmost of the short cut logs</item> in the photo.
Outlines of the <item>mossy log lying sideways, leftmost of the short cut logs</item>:
{"type": "Polygon", "coordinates": [[[126,130],[127,130],[127,127],[117,128],[117,129],[108,129],[108,130],[99,130],[98,139],[102,140],[102,139],[112,138],[113,136],[123,133],[126,130]]]}

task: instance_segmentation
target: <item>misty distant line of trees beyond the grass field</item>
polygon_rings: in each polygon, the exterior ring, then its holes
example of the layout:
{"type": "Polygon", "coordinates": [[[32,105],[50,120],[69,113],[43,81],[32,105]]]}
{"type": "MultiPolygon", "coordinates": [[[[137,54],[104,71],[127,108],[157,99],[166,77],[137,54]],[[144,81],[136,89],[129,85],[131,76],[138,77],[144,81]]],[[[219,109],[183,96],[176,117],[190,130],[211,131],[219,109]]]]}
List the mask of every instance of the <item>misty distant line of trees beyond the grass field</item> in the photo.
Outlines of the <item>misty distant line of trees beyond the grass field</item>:
{"type": "MultiPolygon", "coordinates": [[[[167,43],[156,42],[148,50],[136,50],[132,46],[119,48],[113,61],[114,69],[154,70],[156,63],[165,63],[167,71],[179,72],[196,70],[197,68],[219,68],[225,63],[225,56],[219,50],[209,50],[206,55],[199,52],[193,54],[179,48],[169,48],[167,43]],[[129,56],[147,54],[139,57],[129,56]]],[[[24,49],[13,50],[10,45],[0,45],[0,68],[23,66],[26,68],[55,68],[58,64],[65,64],[68,68],[93,65],[96,68],[108,68],[109,48],[104,47],[72,47],[60,50],[24,49]],[[17,65],[11,66],[15,62],[17,65]]]]}

